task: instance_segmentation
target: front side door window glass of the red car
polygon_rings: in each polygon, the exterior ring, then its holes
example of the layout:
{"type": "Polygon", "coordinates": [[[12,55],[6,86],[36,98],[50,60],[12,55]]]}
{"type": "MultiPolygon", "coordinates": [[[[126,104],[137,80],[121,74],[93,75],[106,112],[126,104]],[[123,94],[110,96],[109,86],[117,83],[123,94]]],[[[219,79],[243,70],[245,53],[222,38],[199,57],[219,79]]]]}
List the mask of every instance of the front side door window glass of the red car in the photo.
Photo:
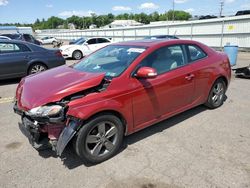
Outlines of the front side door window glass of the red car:
{"type": "Polygon", "coordinates": [[[185,58],[182,46],[168,46],[157,49],[147,56],[140,66],[147,66],[156,69],[158,74],[168,72],[185,65],[185,58]]]}

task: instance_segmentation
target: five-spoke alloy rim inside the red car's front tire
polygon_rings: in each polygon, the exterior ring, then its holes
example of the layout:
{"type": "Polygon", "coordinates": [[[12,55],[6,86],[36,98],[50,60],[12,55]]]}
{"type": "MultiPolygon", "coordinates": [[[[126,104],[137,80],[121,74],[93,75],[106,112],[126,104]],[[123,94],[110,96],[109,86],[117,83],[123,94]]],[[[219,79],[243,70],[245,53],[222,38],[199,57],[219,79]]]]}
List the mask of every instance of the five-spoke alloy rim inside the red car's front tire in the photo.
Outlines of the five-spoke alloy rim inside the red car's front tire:
{"type": "Polygon", "coordinates": [[[85,147],[91,155],[101,157],[114,149],[117,137],[118,130],[112,122],[101,122],[88,133],[85,147]]]}

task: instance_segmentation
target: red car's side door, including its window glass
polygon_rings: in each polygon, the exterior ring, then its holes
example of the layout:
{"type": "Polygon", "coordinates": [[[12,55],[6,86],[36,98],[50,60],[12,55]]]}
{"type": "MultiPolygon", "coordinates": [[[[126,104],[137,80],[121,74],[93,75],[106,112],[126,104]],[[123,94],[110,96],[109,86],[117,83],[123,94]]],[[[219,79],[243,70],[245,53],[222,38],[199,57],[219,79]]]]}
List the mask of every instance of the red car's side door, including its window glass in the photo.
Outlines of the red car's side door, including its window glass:
{"type": "Polygon", "coordinates": [[[191,65],[186,64],[181,45],[156,50],[140,66],[153,67],[159,75],[153,79],[132,78],[135,128],[147,126],[151,121],[182,110],[191,103],[194,75],[191,65]]]}

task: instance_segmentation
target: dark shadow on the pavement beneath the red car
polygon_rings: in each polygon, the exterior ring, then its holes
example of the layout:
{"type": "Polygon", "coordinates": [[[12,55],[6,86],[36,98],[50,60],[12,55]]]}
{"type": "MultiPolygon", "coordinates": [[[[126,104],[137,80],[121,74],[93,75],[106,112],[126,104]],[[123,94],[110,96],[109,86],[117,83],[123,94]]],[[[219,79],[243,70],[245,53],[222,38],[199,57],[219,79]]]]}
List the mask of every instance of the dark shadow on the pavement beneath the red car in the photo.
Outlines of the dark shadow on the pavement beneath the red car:
{"type": "MultiPolygon", "coordinates": [[[[185,121],[186,119],[189,119],[199,113],[202,113],[203,111],[207,110],[206,107],[203,105],[195,107],[191,110],[188,110],[186,112],[183,112],[179,115],[176,115],[172,118],[169,118],[167,120],[164,120],[160,123],[157,123],[155,125],[152,125],[146,129],[143,129],[137,133],[134,133],[130,136],[127,136],[124,138],[123,141],[123,146],[120,149],[119,153],[121,153],[123,150],[125,150],[128,145],[132,145],[136,142],[139,142],[140,140],[143,140],[144,138],[147,138],[149,136],[152,136],[156,133],[162,132],[172,126],[175,126],[176,124],[185,121]]],[[[45,151],[40,151],[39,155],[43,158],[49,158],[49,157],[58,157],[55,152],[51,150],[45,150],[45,151]]],[[[63,152],[63,155],[60,157],[61,160],[63,161],[63,164],[69,168],[69,169],[74,169],[80,165],[85,165],[87,167],[92,166],[91,164],[81,160],[76,153],[73,151],[72,144],[69,144],[65,151],[63,152]]]]}

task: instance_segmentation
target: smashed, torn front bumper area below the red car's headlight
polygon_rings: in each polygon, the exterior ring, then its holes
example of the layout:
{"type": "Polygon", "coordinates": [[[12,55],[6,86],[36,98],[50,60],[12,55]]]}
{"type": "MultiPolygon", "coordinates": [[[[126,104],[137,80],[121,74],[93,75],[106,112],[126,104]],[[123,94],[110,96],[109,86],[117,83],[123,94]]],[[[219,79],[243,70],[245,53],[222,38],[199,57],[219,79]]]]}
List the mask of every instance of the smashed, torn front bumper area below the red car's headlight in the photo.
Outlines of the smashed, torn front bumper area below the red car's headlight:
{"type": "Polygon", "coordinates": [[[20,131],[28,138],[29,143],[37,150],[52,149],[57,155],[61,156],[69,141],[74,137],[81,121],[74,117],[55,118],[46,120],[35,120],[25,114],[24,111],[18,109],[14,105],[14,112],[21,116],[19,122],[20,131]]]}

